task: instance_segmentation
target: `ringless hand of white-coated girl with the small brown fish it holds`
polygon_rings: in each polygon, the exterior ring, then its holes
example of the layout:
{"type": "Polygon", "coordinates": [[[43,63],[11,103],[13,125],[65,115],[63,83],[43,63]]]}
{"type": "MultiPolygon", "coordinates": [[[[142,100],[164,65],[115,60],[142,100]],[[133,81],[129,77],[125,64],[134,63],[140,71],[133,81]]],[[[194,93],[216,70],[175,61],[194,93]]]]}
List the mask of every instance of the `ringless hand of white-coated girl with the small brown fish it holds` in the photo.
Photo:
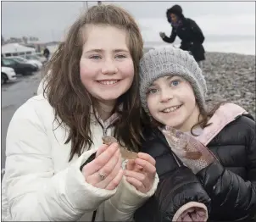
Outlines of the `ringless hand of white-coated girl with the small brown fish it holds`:
{"type": "MultiPolygon", "coordinates": [[[[117,142],[112,136],[103,136],[103,143],[117,142]]],[[[156,175],[155,160],[147,153],[135,153],[120,147],[122,158],[128,159],[124,175],[126,181],[136,187],[136,190],[147,193],[156,175]]]]}

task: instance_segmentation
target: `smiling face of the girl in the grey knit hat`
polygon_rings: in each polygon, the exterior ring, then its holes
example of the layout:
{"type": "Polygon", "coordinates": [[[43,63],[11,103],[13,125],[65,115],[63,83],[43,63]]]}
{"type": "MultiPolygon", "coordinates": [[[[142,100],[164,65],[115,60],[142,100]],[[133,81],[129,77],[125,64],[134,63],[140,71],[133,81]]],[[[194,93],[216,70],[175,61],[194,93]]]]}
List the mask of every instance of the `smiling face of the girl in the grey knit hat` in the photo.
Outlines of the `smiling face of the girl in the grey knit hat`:
{"type": "Polygon", "coordinates": [[[199,114],[192,86],[179,76],[155,80],[147,91],[147,108],[153,119],[178,130],[190,130],[199,114]]]}

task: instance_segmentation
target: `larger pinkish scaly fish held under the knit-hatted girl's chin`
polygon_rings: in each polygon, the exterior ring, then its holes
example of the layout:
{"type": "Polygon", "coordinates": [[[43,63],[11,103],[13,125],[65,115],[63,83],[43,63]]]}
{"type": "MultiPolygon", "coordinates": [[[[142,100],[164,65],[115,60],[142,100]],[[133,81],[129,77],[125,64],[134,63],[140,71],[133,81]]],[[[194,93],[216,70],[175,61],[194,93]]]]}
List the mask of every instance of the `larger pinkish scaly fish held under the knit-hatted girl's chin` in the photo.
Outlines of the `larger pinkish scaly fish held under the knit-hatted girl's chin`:
{"type": "Polygon", "coordinates": [[[218,159],[209,151],[208,147],[205,147],[194,137],[170,126],[165,126],[161,130],[173,153],[194,173],[198,173],[213,162],[218,162],[218,159]]]}

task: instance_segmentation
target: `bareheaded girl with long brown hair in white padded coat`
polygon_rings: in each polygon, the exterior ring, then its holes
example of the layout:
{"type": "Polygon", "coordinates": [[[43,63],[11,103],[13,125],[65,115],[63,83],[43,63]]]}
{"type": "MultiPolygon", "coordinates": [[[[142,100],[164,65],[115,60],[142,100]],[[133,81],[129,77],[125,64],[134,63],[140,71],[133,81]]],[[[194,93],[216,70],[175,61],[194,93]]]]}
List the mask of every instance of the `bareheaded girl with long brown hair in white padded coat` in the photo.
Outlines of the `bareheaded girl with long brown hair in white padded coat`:
{"type": "Polygon", "coordinates": [[[9,125],[4,220],[131,221],[153,195],[154,159],[120,154],[120,146],[140,146],[142,47],[134,19],[113,5],[89,8],[70,27],[42,93],[9,125]],[[103,144],[103,136],[118,143],[103,144]]]}

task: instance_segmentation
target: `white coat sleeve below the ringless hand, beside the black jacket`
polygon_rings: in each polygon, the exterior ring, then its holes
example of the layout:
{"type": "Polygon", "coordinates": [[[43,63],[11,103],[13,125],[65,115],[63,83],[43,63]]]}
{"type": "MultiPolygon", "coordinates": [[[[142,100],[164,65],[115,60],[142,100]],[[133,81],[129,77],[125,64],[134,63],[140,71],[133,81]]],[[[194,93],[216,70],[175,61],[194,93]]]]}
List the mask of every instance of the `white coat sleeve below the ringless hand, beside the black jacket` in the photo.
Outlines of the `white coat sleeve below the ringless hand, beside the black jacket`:
{"type": "Polygon", "coordinates": [[[113,214],[105,214],[105,221],[132,221],[136,209],[153,196],[158,183],[159,176],[156,174],[151,190],[142,193],[128,183],[123,176],[114,197],[104,203],[104,212],[113,212],[113,214]]]}

